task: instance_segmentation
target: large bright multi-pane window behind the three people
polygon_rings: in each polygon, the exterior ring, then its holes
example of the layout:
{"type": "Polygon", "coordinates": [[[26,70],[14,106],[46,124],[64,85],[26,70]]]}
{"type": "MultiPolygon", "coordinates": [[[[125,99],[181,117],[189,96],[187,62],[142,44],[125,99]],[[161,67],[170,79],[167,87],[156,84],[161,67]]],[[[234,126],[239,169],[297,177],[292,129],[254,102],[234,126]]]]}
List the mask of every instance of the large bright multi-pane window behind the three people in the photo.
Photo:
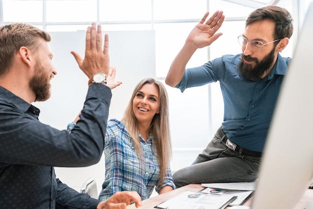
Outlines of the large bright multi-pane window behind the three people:
{"type": "MultiPolygon", "coordinates": [[[[278,6],[292,14],[300,11],[301,23],[310,2],[280,0],[278,6]],[[298,11],[292,11],[295,4],[298,11]]],[[[164,80],[190,30],[206,11],[216,10],[222,10],[226,17],[219,30],[223,35],[194,54],[187,67],[195,67],[223,54],[240,53],[236,37],[243,32],[244,20],[254,8],[223,0],[0,0],[0,25],[23,22],[48,32],[73,32],[96,22],[103,31],[153,30],[155,77],[164,80]]],[[[298,23],[298,17],[293,18],[298,23]]],[[[292,57],[292,40],[290,43],[283,56],[292,57]]],[[[132,53],[131,49],[125,50],[132,53]]],[[[170,87],[167,90],[174,150],[172,169],[176,170],[189,165],[211,139],[222,122],[223,103],[218,83],[187,89],[183,94],[170,87]]]]}

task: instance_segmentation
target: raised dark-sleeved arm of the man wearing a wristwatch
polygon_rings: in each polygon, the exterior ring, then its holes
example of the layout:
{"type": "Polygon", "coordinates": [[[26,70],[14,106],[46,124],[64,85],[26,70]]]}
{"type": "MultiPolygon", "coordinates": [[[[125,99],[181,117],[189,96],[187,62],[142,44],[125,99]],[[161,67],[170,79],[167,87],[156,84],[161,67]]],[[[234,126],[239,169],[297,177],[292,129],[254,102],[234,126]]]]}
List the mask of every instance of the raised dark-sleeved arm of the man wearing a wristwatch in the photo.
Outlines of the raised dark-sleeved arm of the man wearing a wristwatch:
{"type": "Polygon", "coordinates": [[[92,86],[87,94],[82,119],[71,134],[40,123],[14,105],[0,105],[0,146],[10,147],[0,152],[1,162],[59,167],[88,166],[98,162],[104,147],[111,92],[101,84],[92,86]],[[12,128],[14,131],[5,131],[12,128]]]}

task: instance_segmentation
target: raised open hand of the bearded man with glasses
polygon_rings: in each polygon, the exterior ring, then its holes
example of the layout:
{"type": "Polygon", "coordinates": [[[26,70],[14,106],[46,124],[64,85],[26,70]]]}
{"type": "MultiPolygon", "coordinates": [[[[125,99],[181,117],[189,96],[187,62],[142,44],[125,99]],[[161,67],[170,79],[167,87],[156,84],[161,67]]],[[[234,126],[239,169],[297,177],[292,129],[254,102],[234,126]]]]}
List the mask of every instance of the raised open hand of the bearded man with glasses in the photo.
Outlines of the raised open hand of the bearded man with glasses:
{"type": "Polygon", "coordinates": [[[216,11],[206,22],[208,12],[205,13],[201,21],[193,28],[186,39],[186,44],[190,44],[194,50],[209,46],[213,43],[222,33],[217,33],[217,30],[224,22],[222,11],[216,11]]]}

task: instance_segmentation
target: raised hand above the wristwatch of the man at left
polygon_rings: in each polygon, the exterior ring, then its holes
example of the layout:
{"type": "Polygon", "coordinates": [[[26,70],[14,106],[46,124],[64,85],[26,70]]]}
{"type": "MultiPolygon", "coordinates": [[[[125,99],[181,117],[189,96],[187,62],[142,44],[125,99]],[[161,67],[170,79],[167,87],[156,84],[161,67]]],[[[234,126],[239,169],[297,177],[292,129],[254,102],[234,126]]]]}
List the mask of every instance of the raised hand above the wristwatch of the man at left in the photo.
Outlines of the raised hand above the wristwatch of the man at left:
{"type": "Polygon", "coordinates": [[[70,52],[79,68],[88,78],[96,73],[108,74],[109,55],[108,55],[108,35],[104,35],[104,45],[102,49],[102,31],[101,26],[92,23],[86,32],[85,57],[82,59],[76,52],[70,52]]]}

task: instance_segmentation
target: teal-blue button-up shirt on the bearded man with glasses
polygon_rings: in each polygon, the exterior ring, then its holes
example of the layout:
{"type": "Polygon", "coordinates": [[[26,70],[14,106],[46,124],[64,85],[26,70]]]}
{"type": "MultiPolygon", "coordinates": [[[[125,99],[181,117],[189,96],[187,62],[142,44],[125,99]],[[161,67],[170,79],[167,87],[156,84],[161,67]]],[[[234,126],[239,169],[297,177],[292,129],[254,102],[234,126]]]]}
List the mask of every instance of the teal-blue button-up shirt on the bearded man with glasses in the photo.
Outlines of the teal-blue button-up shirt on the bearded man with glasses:
{"type": "Polygon", "coordinates": [[[271,72],[262,80],[247,81],[237,71],[240,54],[225,55],[186,69],[176,86],[186,88],[219,81],[224,102],[222,130],[233,143],[262,152],[282,79],[290,58],[278,54],[271,72]]]}

